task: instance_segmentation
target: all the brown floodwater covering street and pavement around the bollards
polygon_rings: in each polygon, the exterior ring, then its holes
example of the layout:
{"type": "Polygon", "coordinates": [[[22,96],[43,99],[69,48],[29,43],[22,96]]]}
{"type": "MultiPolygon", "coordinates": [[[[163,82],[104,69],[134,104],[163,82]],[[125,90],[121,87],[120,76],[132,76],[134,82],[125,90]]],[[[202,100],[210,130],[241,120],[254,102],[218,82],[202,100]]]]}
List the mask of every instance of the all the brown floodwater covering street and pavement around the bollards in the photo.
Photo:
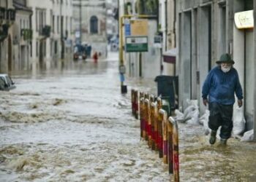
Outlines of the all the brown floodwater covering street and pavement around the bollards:
{"type": "MultiPolygon", "coordinates": [[[[0,181],[170,181],[167,165],[140,141],[130,89],[156,93],[152,79],[128,79],[118,55],[15,74],[0,91],[0,181]]],[[[256,144],[208,144],[203,126],[179,124],[181,181],[255,181],[256,144]]]]}

